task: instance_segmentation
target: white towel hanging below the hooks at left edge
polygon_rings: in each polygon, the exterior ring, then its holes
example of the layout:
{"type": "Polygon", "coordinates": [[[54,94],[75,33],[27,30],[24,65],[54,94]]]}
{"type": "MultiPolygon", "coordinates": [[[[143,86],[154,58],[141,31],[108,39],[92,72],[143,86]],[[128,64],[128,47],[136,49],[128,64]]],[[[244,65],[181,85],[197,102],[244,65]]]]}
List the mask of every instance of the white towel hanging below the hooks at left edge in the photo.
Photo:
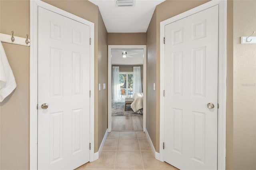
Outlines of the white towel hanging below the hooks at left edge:
{"type": "Polygon", "coordinates": [[[10,64],[0,42],[0,102],[2,102],[16,88],[16,81],[10,64]]]}

